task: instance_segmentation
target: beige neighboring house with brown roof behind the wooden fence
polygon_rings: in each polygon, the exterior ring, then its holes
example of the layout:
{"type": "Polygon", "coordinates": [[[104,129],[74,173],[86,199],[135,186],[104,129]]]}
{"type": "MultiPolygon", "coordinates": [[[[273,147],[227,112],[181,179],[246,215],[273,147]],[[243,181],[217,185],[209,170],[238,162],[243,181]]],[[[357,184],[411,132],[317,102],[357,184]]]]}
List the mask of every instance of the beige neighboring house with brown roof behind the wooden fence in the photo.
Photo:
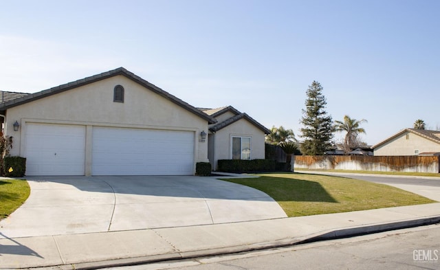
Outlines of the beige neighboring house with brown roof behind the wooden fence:
{"type": "Polygon", "coordinates": [[[405,128],[371,148],[375,156],[436,155],[440,131],[405,128]]]}

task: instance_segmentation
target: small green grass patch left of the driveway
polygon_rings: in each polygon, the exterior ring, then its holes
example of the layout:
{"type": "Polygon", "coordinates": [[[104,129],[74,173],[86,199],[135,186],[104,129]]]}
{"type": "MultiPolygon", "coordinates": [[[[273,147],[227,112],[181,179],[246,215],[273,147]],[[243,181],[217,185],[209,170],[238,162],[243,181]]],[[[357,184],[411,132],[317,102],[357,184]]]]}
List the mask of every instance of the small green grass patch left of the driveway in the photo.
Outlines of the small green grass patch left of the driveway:
{"type": "Polygon", "coordinates": [[[8,217],[30,194],[30,187],[26,180],[0,180],[0,220],[8,217]]]}

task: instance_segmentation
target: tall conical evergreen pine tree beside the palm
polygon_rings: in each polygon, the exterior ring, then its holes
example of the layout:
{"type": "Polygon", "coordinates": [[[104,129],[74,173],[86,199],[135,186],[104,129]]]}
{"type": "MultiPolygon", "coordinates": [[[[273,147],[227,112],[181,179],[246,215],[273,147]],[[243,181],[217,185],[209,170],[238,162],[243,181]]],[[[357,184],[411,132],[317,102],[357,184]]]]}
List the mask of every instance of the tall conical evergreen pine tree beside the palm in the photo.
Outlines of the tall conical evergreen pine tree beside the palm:
{"type": "Polygon", "coordinates": [[[303,144],[300,148],[303,155],[324,155],[331,148],[333,122],[325,111],[326,104],[320,83],[312,82],[307,89],[306,109],[301,117],[304,127],[301,128],[303,144]]]}

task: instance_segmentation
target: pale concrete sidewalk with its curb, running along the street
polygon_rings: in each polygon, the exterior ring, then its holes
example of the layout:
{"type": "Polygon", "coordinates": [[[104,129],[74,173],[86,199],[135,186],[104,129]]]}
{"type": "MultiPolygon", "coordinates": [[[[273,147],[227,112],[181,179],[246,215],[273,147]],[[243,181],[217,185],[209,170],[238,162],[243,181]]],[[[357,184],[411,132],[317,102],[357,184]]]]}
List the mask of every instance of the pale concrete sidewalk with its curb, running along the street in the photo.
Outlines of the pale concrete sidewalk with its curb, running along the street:
{"type": "Polygon", "coordinates": [[[93,269],[440,223],[440,203],[213,225],[0,239],[0,269],[93,269]]]}

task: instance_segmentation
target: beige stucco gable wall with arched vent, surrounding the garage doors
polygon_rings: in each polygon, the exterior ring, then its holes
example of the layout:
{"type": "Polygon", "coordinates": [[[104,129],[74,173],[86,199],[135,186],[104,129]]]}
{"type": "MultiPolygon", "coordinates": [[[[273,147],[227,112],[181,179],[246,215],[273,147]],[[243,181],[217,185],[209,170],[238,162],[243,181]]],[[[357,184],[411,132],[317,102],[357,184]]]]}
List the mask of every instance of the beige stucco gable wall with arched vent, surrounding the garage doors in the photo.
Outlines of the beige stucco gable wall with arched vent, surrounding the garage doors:
{"type": "Polygon", "coordinates": [[[5,135],[14,137],[11,155],[24,155],[25,144],[21,142],[29,122],[81,124],[87,126],[87,131],[92,130],[91,126],[193,131],[195,162],[208,161],[208,142],[199,142],[199,133],[208,131],[208,121],[124,76],[114,76],[8,109],[5,135]],[[124,87],[124,103],[113,102],[115,85],[124,87]],[[19,131],[12,127],[16,120],[21,125],[19,131]]]}

